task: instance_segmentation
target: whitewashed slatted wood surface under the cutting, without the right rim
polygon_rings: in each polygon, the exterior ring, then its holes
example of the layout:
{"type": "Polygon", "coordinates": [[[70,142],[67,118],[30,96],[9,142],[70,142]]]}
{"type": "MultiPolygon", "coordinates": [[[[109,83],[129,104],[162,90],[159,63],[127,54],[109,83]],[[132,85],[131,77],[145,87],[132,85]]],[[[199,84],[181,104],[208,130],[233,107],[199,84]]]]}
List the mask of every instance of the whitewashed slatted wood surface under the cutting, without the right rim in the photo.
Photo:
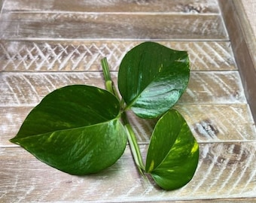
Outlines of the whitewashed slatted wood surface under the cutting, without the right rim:
{"type": "MultiPolygon", "coordinates": [[[[217,0],[1,4],[1,202],[256,201],[256,128],[217,0]],[[122,57],[142,41],[190,56],[190,83],[175,106],[200,143],[197,172],[186,186],[166,192],[143,180],[129,145],[110,168],[77,177],[8,141],[53,89],[75,83],[103,88],[103,57],[116,80],[122,57]]],[[[130,117],[145,156],[154,121],[130,117]]]]}

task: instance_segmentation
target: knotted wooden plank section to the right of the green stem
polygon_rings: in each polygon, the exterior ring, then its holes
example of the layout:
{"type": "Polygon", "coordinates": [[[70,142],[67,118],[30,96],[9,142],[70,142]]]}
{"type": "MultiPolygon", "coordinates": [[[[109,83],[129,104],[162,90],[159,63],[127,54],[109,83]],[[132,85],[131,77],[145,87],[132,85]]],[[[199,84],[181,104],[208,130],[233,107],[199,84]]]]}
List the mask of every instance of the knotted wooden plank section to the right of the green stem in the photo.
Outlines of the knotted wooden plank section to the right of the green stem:
{"type": "MultiPolygon", "coordinates": [[[[256,127],[248,105],[176,105],[200,143],[256,141],[256,127]]],[[[156,120],[130,114],[138,141],[148,143],[156,120]]]]}

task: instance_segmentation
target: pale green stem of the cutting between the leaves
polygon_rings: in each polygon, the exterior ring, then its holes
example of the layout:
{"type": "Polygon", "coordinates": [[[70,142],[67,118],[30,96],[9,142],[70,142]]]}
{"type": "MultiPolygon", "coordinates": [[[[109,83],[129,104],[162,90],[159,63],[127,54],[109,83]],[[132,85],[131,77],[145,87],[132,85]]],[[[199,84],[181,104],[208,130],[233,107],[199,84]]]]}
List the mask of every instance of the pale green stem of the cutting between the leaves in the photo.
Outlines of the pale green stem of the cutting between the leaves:
{"type": "MultiPolygon", "coordinates": [[[[104,78],[105,78],[106,89],[108,90],[108,92],[111,92],[113,95],[115,95],[119,99],[120,104],[122,104],[123,100],[121,101],[120,98],[118,97],[117,89],[114,86],[114,82],[111,80],[111,74],[109,71],[107,59],[106,58],[102,59],[101,63],[102,63],[103,74],[104,74],[104,78]]],[[[125,111],[122,112],[121,119],[123,121],[124,128],[126,129],[126,132],[127,132],[130,149],[133,153],[133,159],[136,162],[139,172],[142,174],[142,176],[145,177],[145,175],[143,173],[143,171],[145,171],[145,165],[142,161],[142,154],[139,150],[139,144],[136,139],[136,135],[133,131],[133,128],[129,123],[129,120],[127,118],[125,111]]]]}

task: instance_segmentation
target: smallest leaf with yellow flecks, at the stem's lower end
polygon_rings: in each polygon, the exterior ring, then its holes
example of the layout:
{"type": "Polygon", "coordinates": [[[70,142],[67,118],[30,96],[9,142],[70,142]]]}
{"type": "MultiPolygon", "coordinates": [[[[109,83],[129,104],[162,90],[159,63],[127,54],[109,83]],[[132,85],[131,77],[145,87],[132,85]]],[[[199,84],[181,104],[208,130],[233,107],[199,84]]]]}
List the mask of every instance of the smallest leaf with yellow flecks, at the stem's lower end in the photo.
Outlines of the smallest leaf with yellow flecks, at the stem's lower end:
{"type": "Polygon", "coordinates": [[[158,120],[148,148],[145,171],[163,189],[178,189],[194,176],[199,147],[178,111],[167,111],[158,120]]]}

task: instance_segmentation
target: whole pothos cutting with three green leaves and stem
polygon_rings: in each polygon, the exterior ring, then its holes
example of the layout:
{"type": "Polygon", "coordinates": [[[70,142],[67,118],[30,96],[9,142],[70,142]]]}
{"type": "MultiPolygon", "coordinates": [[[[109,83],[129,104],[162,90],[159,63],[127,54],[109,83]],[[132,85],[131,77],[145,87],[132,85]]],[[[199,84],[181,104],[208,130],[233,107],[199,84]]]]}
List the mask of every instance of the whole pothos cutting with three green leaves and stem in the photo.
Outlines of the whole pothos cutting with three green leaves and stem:
{"type": "Polygon", "coordinates": [[[102,171],[122,156],[129,141],[139,172],[163,189],[178,189],[194,176],[199,147],[186,121],[172,108],[190,77],[187,52],[144,42],[123,57],[118,89],[102,59],[105,89],[70,85],[46,95],[10,141],[69,174],[102,171]],[[120,98],[121,97],[121,98],[120,98]],[[157,119],[145,163],[127,111],[157,119]]]}

